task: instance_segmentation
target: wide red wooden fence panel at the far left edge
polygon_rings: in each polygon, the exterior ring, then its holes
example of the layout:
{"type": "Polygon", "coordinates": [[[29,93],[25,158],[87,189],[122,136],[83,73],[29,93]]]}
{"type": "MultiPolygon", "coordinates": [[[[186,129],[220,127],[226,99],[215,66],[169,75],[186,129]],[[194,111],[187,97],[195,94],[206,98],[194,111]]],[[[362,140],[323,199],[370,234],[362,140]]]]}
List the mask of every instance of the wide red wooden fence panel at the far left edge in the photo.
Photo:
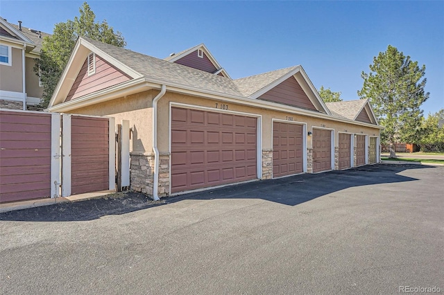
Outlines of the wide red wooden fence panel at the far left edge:
{"type": "Polygon", "coordinates": [[[0,202],[51,196],[51,114],[0,111],[0,202]]]}

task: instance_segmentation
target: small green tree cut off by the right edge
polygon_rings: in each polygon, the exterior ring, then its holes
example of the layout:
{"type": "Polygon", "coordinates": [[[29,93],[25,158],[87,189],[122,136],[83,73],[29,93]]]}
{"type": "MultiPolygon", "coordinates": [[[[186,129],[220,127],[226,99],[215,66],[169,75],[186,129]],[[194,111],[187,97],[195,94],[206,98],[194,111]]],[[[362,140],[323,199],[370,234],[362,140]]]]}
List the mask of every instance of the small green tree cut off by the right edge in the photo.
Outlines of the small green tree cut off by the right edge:
{"type": "Polygon", "coordinates": [[[444,151],[444,109],[422,119],[421,132],[416,143],[423,152],[444,151]]]}

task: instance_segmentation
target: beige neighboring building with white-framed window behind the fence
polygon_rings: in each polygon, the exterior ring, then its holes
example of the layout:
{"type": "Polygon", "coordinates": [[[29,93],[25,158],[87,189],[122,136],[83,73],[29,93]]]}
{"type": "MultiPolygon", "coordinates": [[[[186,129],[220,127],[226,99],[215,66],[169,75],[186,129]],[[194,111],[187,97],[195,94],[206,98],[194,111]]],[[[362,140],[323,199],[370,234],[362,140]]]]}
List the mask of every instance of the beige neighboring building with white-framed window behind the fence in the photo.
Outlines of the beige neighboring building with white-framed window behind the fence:
{"type": "Polygon", "coordinates": [[[43,87],[33,68],[48,35],[0,17],[1,108],[27,109],[40,103],[43,87]]]}

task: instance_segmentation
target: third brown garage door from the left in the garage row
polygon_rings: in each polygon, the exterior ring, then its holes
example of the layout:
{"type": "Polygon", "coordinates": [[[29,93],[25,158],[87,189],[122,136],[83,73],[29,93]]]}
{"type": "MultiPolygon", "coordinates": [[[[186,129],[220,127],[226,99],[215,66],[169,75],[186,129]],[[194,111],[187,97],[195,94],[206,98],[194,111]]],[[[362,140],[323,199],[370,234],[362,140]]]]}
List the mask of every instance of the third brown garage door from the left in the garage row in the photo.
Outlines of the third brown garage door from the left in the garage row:
{"type": "Polygon", "coordinates": [[[313,128],[313,172],[332,170],[332,132],[313,128]]]}

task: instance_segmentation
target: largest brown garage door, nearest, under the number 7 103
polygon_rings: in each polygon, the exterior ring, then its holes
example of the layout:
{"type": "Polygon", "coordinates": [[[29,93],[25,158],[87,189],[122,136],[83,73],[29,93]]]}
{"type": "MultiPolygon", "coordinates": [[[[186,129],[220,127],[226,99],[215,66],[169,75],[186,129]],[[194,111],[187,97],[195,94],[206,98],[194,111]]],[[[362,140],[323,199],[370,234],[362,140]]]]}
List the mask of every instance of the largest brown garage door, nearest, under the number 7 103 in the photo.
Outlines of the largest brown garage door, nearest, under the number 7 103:
{"type": "Polygon", "coordinates": [[[257,118],[171,108],[171,193],[257,178],[257,118]]]}

